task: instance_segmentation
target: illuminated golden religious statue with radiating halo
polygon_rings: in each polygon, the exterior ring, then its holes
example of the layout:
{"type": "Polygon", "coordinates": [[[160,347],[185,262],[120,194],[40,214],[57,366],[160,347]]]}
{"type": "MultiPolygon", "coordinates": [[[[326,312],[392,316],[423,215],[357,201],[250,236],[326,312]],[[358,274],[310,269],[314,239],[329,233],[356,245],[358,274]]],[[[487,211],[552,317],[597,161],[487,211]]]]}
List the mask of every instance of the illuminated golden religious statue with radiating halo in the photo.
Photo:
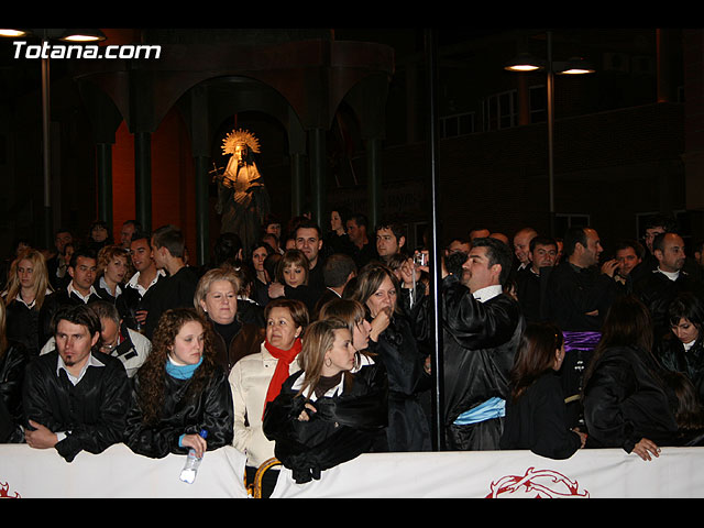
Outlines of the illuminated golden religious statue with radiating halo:
{"type": "Polygon", "coordinates": [[[224,173],[216,176],[221,233],[235,233],[249,254],[260,237],[271,202],[264,179],[254,163],[260,142],[246,130],[233,130],[222,141],[223,154],[231,154],[224,173]]]}

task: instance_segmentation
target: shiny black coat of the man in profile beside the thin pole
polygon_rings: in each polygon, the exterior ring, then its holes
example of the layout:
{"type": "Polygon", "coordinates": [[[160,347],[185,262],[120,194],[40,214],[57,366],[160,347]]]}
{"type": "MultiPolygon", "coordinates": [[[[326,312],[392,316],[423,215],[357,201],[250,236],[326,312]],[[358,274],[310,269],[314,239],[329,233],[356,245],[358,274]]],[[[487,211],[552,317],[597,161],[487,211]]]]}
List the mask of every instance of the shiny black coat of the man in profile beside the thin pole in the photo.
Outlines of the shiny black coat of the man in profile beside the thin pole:
{"type": "Polygon", "coordinates": [[[454,275],[442,282],[444,420],[492,397],[506,399],[525,319],[518,302],[501,294],[476,300],[454,275]]]}

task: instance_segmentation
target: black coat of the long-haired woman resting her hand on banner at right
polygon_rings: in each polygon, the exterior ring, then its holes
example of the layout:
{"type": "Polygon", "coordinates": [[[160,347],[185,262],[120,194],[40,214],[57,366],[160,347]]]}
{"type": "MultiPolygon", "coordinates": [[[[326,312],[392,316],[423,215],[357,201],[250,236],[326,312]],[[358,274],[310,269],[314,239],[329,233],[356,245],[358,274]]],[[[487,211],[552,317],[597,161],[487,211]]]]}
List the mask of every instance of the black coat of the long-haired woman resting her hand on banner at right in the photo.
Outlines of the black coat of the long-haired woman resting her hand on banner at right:
{"type": "Polygon", "coordinates": [[[623,448],[630,453],[642,438],[676,444],[673,395],[649,352],[614,346],[596,359],[584,387],[587,447],[623,448]]]}

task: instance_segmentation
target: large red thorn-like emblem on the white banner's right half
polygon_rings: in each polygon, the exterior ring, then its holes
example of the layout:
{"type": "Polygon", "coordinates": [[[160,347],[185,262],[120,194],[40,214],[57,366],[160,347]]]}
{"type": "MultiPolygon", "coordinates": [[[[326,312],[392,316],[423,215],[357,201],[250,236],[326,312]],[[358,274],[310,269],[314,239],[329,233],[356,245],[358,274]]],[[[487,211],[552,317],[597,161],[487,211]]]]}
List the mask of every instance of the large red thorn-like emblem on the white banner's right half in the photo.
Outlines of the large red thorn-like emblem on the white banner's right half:
{"type": "Polygon", "coordinates": [[[588,498],[586,491],[580,491],[575,481],[552,470],[529,468],[520,475],[503,476],[492,482],[492,491],[486,498],[520,496],[526,498],[588,498]]]}

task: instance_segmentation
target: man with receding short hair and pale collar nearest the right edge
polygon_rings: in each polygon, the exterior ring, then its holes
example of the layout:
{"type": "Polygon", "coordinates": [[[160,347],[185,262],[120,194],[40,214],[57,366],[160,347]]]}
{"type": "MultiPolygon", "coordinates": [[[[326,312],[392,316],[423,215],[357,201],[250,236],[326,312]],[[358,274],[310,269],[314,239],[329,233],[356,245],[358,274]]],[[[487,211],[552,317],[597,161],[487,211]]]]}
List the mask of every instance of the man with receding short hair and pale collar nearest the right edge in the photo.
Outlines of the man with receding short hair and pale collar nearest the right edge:
{"type": "Polygon", "coordinates": [[[658,340],[670,331],[667,314],[672,299],[682,292],[704,299],[704,285],[683,270],[686,255],[684,241],[678,233],[656,235],[652,254],[658,266],[634,284],[634,293],[650,310],[653,337],[658,340]]]}

